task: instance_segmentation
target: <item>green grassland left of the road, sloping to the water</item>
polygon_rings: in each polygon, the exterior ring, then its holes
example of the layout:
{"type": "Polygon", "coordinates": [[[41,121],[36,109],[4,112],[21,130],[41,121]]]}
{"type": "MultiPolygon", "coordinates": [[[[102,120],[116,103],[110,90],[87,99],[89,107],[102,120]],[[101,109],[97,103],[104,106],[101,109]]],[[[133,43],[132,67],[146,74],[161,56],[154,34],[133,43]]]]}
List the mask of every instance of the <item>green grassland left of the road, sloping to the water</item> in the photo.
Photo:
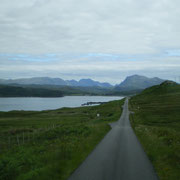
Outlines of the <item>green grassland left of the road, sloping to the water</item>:
{"type": "Polygon", "coordinates": [[[0,112],[0,179],[67,179],[119,119],[123,101],[0,112]]]}

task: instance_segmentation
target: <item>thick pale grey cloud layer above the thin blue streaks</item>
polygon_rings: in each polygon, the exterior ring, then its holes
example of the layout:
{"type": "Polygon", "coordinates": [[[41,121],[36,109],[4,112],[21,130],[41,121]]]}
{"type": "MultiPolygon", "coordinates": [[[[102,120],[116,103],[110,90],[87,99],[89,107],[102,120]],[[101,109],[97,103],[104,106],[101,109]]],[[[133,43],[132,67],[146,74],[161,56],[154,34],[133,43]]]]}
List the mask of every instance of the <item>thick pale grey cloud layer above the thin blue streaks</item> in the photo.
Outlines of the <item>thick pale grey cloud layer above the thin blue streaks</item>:
{"type": "Polygon", "coordinates": [[[177,0],[3,0],[0,51],[153,53],[179,47],[179,5],[177,0]]]}

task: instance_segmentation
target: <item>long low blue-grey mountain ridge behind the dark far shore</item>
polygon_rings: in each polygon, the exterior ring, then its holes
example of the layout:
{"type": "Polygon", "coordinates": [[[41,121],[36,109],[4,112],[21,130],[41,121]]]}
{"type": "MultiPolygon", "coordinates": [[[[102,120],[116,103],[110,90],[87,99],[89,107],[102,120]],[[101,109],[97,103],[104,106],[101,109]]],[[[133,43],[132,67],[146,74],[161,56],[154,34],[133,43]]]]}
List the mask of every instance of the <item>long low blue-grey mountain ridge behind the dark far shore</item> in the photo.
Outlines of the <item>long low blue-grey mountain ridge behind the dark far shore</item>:
{"type": "Polygon", "coordinates": [[[63,80],[61,78],[50,78],[50,77],[34,77],[34,78],[23,78],[23,79],[0,79],[0,84],[21,84],[21,85],[62,85],[62,86],[79,86],[79,87],[112,87],[109,83],[101,83],[92,79],[81,79],[76,80],[63,80]]]}

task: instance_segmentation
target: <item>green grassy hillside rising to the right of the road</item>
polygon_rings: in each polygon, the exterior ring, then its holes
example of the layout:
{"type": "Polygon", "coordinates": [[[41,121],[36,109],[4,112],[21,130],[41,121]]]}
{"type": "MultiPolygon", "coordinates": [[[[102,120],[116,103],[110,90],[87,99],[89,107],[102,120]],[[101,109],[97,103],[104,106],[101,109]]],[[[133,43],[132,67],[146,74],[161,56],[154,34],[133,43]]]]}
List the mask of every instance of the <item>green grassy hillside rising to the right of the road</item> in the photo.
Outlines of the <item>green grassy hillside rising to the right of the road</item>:
{"type": "Polygon", "coordinates": [[[130,100],[131,124],[161,180],[180,177],[180,85],[166,81],[130,100]]]}

